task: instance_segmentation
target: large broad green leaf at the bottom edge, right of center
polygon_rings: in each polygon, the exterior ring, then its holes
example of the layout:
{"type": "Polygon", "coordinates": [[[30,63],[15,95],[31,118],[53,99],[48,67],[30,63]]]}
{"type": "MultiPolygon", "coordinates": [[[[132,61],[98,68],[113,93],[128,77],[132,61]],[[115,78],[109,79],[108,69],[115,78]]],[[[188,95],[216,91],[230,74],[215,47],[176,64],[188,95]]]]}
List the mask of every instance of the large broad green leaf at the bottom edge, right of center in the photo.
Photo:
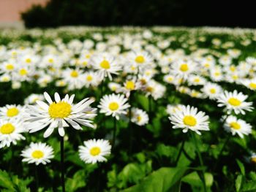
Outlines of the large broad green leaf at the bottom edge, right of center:
{"type": "Polygon", "coordinates": [[[127,188],[122,192],[176,192],[179,191],[181,177],[186,171],[186,167],[163,167],[148,175],[140,184],[127,188]]]}

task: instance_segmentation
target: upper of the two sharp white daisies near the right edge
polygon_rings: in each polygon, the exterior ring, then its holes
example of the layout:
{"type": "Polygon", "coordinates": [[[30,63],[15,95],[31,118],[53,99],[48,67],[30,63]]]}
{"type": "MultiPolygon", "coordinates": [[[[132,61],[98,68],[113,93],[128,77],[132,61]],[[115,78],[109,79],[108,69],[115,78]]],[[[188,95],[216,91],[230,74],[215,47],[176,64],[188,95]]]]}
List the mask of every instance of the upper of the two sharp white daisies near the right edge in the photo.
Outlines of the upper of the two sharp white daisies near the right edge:
{"type": "Polygon", "coordinates": [[[238,91],[228,92],[220,94],[217,98],[219,102],[218,107],[225,107],[227,114],[234,111],[236,114],[245,114],[245,111],[252,111],[252,102],[246,102],[248,96],[243,93],[238,93],[238,91]]]}

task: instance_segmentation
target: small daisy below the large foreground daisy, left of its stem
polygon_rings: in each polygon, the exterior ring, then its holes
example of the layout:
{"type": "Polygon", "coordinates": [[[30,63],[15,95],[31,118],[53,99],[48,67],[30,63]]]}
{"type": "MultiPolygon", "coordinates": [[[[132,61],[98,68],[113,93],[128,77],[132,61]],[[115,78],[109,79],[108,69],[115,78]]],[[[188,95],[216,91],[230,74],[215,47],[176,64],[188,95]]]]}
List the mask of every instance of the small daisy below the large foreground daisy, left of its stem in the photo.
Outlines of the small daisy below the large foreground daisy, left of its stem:
{"type": "Polygon", "coordinates": [[[53,158],[53,147],[46,145],[46,143],[34,143],[31,142],[29,147],[21,151],[21,156],[23,156],[23,162],[28,162],[28,164],[48,164],[50,159],[53,158]]]}

